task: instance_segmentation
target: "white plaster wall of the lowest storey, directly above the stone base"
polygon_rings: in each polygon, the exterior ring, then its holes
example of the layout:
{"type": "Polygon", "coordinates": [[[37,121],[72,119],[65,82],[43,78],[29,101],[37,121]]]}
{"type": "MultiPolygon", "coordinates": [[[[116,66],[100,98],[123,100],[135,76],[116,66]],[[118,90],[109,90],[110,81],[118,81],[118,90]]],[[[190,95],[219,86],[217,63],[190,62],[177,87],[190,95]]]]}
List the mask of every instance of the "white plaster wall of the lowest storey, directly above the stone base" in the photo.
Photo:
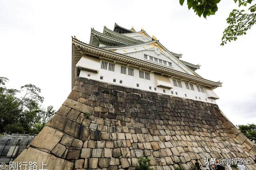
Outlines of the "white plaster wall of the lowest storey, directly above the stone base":
{"type": "Polygon", "coordinates": [[[182,98],[188,98],[188,99],[192,99],[192,100],[198,100],[198,101],[202,101],[202,102],[209,102],[209,103],[216,104],[216,101],[214,99],[209,99],[209,98],[207,98],[205,93],[198,92],[198,90],[196,88],[196,84],[193,84],[194,91],[188,90],[188,89],[186,89],[185,82],[181,81],[182,88],[176,87],[173,85],[172,79],[170,78],[170,82],[173,86],[172,89],[156,87],[156,80],[155,80],[154,73],[150,73],[150,80],[146,80],[146,79],[139,78],[139,70],[137,68],[134,68],[134,76],[128,76],[128,67],[126,67],[126,74],[121,74],[121,64],[119,64],[119,63],[115,63],[114,72],[104,70],[104,69],[100,69],[100,71],[98,73],[81,70],[79,76],[84,77],[84,78],[89,78],[92,80],[101,81],[101,82],[108,82],[110,84],[117,84],[120,86],[128,86],[128,87],[132,87],[132,88],[138,88],[136,86],[136,84],[138,83],[138,84],[140,84],[138,89],[141,89],[141,90],[158,92],[158,93],[168,94],[168,95],[172,95],[171,91],[173,91],[174,94],[172,96],[178,96],[178,97],[182,97],[182,98]],[[88,74],[90,74],[90,77],[88,77],[88,74]],[[103,80],[100,80],[100,76],[103,76],[103,80]],[[113,82],[113,78],[116,79],[115,83],[113,82]],[[120,80],[123,80],[122,84],[119,83],[120,80]],[[149,89],[149,86],[152,87],[152,90],[149,89]],[[155,87],[156,87],[156,91],[154,90],[155,87]],[[166,90],[166,93],[163,92],[163,89],[166,90]],[[175,92],[178,92],[178,95],[176,95],[175,92]],[[185,94],[187,94],[187,97],[185,97],[185,94]],[[196,99],[196,96],[197,96],[197,99],[196,99]],[[201,98],[201,100],[199,99],[199,97],[201,98]],[[206,101],[206,99],[207,99],[207,101],[206,101]]]}

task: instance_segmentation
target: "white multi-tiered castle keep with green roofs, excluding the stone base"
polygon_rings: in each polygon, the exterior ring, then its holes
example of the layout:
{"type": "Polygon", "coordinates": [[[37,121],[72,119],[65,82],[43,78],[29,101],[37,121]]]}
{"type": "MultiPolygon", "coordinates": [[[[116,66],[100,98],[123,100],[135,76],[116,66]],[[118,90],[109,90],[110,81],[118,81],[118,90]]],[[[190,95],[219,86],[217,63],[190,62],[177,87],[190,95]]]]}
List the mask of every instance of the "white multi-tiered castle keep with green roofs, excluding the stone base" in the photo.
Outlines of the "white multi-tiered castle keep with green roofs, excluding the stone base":
{"type": "Polygon", "coordinates": [[[116,84],[216,103],[213,89],[220,82],[206,80],[195,70],[199,65],[180,60],[182,55],[166,49],[143,29],[136,32],[115,23],[114,31],[91,31],[90,43],[72,38],[72,87],[78,76],[116,84]]]}

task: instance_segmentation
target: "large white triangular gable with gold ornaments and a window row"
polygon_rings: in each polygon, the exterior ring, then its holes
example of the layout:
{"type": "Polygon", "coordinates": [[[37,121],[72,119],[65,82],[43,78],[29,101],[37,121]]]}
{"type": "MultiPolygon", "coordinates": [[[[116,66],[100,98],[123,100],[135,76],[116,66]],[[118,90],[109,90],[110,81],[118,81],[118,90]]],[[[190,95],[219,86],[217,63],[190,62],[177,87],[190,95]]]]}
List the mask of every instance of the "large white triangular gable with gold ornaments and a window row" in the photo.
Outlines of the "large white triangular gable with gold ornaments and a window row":
{"type": "Polygon", "coordinates": [[[188,68],[185,64],[183,64],[178,58],[176,58],[172,53],[165,49],[158,41],[151,41],[148,43],[140,44],[140,45],[131,45],[128,47],[119,47],[119,48],[108,48],[107,50],[114,51],[116,53],[124,54],[132,58],[140,59],[149,63],[154,63],[157,65],[165,66],[167,68],[171,68],[173,70],[177,70],[179,72],[183,72],[186,74],[194,75],[200,77],[193,70],[188,68]],[[148,56],[148,57],[145,57],[148,56]],[[167,63],[159,63],[150,60],[150,57],[160,59],[163,62],[167,63]],[[172,63],[172,66],[169,66],[168,62],[172,63]]]}

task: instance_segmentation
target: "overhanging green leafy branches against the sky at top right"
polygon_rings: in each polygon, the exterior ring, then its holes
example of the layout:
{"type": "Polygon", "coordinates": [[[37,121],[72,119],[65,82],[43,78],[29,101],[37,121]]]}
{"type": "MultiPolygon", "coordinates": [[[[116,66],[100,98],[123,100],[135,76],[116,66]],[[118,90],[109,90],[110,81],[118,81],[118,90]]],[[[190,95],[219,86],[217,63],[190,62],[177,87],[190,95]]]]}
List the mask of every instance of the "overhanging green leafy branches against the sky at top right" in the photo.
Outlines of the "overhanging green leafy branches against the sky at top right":
{"type": "MultiPolygon", "coordinates": [[[[214,15],[218,11],[218,3],[220,0],[187,0],[188,9],[192,8],[194,12],[204,18],[210,15],[214,15]]],[[[230,12],[228,18],[226,19],[228,27],[224,29],[222,36],[222,43],[224,45],[230,41],[236,41],[238,36],[245,35],[248,29],[256,23],[256,3],[254,0],[234,0],[235,3],[238,2],[238,7],[250,4],[247,10],[234,9],[230,12]]],[[[184,0],[180,0],[180,4],[184,4],[184,0]]]]}

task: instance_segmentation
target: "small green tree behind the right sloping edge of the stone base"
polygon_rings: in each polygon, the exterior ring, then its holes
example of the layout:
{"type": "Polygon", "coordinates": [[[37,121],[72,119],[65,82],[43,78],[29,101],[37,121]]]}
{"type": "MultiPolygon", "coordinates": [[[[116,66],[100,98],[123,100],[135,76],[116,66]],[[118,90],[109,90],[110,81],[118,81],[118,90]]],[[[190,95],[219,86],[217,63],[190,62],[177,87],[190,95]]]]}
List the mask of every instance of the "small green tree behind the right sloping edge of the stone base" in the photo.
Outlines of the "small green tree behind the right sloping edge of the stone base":
{"type": "Polygon", "coordinates": [[[256,125],[247,124],[247,125],[237,125],[238,129],[250,139],[252,142],[256,142],[256,125]]]}

